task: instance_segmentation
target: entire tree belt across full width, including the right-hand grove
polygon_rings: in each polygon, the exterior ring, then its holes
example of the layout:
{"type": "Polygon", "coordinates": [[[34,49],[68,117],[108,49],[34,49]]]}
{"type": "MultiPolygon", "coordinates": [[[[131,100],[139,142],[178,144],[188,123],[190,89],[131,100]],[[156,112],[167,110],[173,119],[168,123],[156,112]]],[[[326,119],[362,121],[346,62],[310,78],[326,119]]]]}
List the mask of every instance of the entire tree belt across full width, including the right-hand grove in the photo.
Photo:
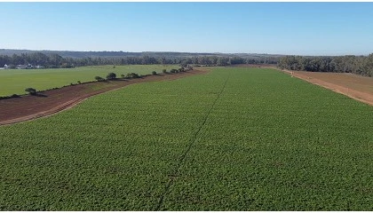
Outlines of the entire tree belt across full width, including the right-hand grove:
{"type": "Polygon", "coordinates": [[[187,67],[188,64],[203,66],[229,66],[237,64],[277,64],[280,68],[290,70],[305,70],[311,72],[338,72],[353,73],[357,75],[373,76],[373,53],[369,56],[260,56],[255,59],[239,56],[193,56],[193,57],[97,57],[97,58],[69,58],[61,57],[57,53],[44,54],[42,52],[13,54],[12,56],[0,55],[0,67],[7,65],[15,68],[18,65],[43,66],[48,68],[70,68],[99,65],[151,65],[174,64],[187,67]]]}

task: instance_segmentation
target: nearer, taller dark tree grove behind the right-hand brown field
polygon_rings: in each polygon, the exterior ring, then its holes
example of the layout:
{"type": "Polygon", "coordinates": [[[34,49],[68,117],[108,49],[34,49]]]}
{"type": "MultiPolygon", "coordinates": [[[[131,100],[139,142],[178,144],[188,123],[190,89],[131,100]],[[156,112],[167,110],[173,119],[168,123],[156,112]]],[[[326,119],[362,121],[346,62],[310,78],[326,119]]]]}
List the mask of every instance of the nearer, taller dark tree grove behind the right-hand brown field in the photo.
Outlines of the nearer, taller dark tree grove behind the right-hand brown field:
{"type": "Polygon", "coordinates": [[[277,65],[290,70],[310,72],[353,73],[373,76],[373,53],[369,56],[334,56],[334,57],[282,57],[277,65]]]}

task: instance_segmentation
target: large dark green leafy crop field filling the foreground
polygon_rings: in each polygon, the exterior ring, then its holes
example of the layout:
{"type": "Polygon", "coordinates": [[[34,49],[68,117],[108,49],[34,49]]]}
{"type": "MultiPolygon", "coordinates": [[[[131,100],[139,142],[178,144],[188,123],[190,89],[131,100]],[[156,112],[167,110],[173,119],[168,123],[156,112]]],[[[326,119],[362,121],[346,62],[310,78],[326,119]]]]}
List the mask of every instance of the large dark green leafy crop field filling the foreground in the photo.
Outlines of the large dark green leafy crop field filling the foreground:
{"type": "Polygon", "coordinates": [[[0,127],[1,210],[373,210],[373,107],[272,69],[0,127]]]}

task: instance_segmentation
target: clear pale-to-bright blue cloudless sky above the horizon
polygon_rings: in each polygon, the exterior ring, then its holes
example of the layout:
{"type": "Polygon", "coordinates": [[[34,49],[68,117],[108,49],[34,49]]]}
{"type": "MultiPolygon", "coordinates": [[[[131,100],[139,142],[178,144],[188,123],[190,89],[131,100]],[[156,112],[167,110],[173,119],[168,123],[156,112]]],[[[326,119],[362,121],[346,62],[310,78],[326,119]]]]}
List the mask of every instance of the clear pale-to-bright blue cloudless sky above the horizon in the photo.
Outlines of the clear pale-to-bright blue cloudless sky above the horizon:
{"type": "Polygon", "coordinates": [[[0,2],[0,49],[373,53],[373,2],[0,2]]]}

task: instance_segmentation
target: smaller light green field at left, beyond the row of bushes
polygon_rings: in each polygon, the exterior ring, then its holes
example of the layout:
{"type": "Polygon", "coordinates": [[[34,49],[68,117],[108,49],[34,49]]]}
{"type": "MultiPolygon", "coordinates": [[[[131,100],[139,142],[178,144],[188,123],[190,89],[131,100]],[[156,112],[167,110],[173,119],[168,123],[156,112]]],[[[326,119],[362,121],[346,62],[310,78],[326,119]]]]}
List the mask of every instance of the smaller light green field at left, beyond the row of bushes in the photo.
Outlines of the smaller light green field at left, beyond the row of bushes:
{"type": "Polygon", "coordinates": [[[69,85],[80,81],[95,81],[95,76],[106,78],[107,74],[113,72],[120,77],[128,73],[140,75],[151,74],[152,71],[162,73],[163,69],[170,71],[179,68],[174,65],[131,65],[131,66],[91,66],[75,68],[56,69],[2,69],[0,70],[0,96],[12,94],[25,94],[28,87],[37,91],[44,91],[54,87],[69,85]]]}

